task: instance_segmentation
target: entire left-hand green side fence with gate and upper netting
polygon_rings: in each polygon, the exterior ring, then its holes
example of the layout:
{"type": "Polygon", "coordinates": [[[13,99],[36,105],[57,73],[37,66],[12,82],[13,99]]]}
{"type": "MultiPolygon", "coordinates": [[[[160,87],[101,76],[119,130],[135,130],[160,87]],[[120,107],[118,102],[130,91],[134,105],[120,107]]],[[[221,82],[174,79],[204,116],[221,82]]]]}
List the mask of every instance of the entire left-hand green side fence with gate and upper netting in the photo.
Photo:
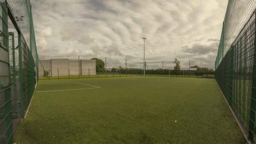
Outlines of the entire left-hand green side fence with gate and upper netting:
{"type": "Polygon", "coordinates": [[[0,143],[13,143],[38,79],[29,0],[0,0],[0,143]]]}

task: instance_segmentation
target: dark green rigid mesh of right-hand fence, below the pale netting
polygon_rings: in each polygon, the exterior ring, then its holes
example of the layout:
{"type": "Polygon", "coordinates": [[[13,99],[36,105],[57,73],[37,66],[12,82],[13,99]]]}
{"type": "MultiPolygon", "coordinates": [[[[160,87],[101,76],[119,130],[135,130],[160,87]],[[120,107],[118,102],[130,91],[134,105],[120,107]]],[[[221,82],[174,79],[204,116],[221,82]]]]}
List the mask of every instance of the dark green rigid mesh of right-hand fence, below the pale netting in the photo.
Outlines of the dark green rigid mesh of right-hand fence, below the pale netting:
{"type": "Polygon", "coordinates": [[[217,82],[229,106],[246,137],[253,142],[256,112],[255,26],[254,12],[215,71],[217,82]]]}

